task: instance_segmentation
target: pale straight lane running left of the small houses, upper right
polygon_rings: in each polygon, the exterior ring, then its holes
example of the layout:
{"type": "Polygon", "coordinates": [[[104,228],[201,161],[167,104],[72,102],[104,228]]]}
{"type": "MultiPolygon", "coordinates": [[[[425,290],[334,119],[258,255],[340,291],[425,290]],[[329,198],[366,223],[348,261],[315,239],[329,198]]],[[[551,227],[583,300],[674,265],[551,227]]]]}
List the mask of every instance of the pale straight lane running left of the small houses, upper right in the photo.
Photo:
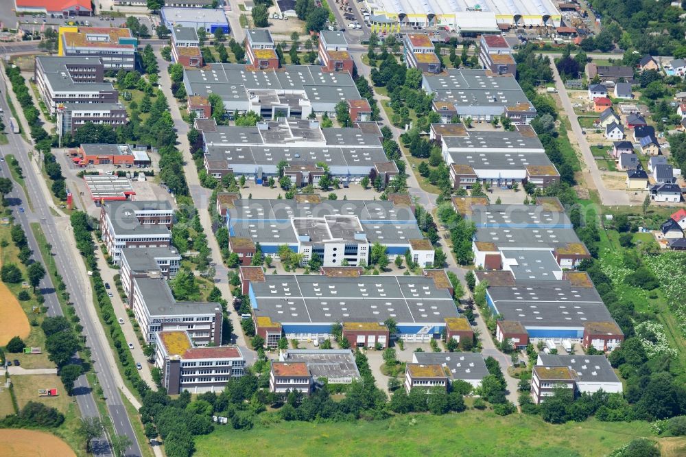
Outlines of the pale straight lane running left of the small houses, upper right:
{"type": "Polygon", "coordinates": [[[586,140],[586,136],[582,132],[581,126],[579,125],[579,119],[576,113],[574,113],[574,108],[571,106],[571,101],[569,100],[567,89],[565,89],[565,84],[563,83],[562,78],[560,78],[560,73],[558,73],[557,67],[555,67],[555,64],[552,60],[550,60],[550,68],[552,69],[553,76],[555,78],[555,88],[560,95],[563,108],[565,108],[565,113],[567,113],[567,117],[569,118],[571,130],[579,141],[581,155],[583,156],[584,163],[587,167],[587,172],[591,175],[593,185],[595,186],[595,189],[598,190],[600,201],[606,206],[630,205],[631,202],[626,191],[610,190],[605,187],[605,183],[603,183],[602,176],[600,175],[600,169],[598,169],[598,164],[595,163],[595,159],[593,159],[593,153],[591,152],[589,143],[586,140]]]}

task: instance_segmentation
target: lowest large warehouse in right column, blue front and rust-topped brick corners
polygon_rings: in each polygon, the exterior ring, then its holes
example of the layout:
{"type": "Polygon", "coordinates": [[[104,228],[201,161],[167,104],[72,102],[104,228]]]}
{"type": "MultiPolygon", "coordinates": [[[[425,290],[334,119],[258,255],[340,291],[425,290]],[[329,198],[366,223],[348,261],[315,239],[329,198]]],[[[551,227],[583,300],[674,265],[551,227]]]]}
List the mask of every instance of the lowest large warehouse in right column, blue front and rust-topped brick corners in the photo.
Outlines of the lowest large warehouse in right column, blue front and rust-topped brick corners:
{"type": "Polygon", "coordinates": [[[557,281],[515,281],[510,272],[476,276],[477,281],[488,281],[486,303],[501,316],[496,331],[500,342],[524,345],[521,328],[534,343],[568,340],[602,351],[612,351],[624,340],[586,272],[565,272],[557,281]],[[514,335],[508,329],[514,329],[514,335]]]}

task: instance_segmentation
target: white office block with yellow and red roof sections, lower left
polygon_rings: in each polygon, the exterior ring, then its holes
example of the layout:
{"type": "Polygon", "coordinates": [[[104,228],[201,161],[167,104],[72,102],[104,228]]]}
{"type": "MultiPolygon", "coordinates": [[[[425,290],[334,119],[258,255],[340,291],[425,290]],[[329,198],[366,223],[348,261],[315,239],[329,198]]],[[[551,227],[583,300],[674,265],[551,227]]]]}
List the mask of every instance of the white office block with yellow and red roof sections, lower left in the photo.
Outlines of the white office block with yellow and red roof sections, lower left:
{"type": "Polygon", "coordinates": [[[244,374],[246,360],[238,347],[196,347],[187,331],[157,333],[155,365],[169,395],[221,392],[229,379],[244,374]]]}

